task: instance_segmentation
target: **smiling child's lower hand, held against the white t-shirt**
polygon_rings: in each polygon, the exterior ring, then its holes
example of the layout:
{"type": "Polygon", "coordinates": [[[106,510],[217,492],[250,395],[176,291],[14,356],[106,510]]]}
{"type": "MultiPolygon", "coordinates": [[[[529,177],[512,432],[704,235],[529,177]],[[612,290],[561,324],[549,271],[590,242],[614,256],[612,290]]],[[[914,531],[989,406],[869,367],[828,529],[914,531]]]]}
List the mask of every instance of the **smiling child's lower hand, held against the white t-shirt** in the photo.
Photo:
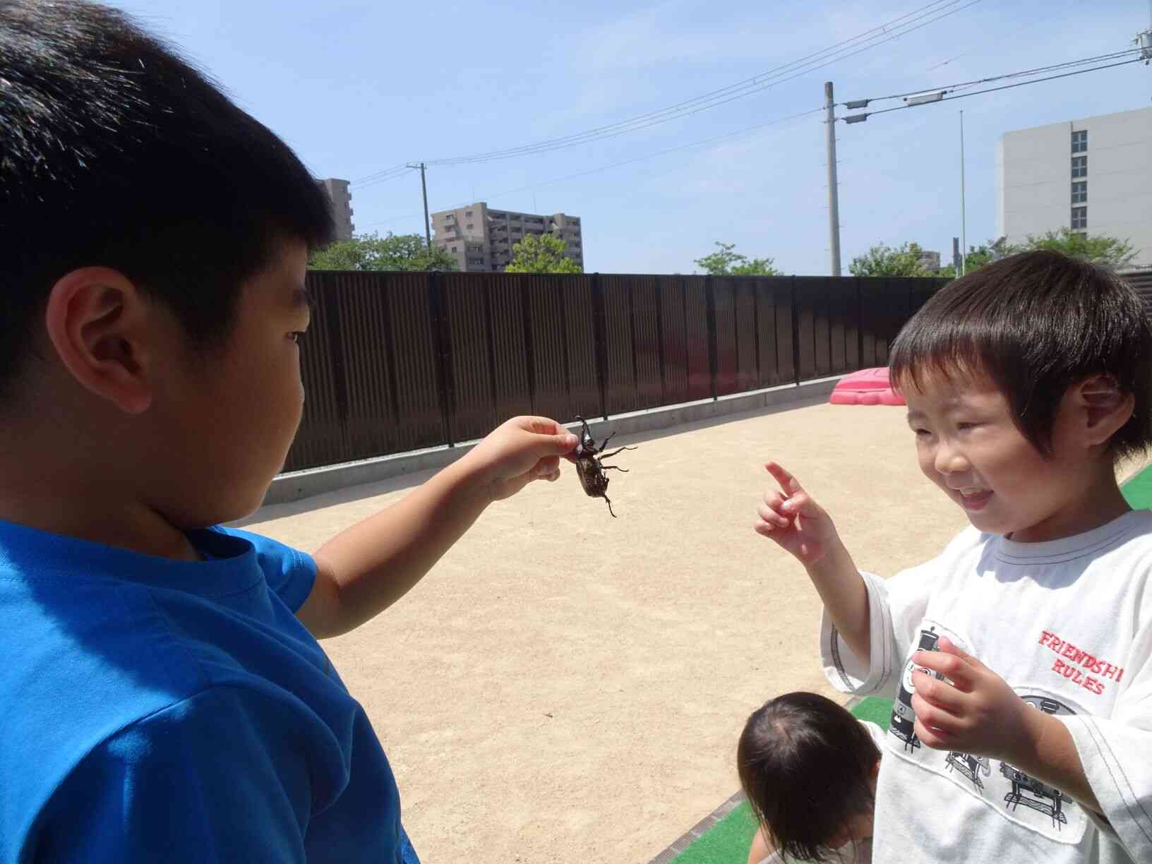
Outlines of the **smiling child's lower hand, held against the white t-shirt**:
{"type": "Polygon", "coordinates": [[[939,651],[917,651],[912,662],[948,681],[912,672],[916,736],[934,750],[957,750],[1016,763],[1034,749],[1046,714],[1021,699],[1008,683],[946,636],[939,651]]]}

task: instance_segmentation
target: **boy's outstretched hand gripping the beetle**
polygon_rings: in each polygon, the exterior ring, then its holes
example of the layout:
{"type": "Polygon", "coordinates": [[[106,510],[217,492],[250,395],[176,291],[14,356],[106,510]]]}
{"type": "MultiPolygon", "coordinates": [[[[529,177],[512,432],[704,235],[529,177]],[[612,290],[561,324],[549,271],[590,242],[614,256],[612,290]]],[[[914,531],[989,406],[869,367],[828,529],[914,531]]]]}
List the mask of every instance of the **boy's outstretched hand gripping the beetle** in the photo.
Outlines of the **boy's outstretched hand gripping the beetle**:
{"type": "Polygon", "coordinates": [[[579,439],[547,417],[513,417],[480,441],[461,462],[476,472],[493,501],[511,498],[532,480],[560,477],[560,457],[579,439]]]}

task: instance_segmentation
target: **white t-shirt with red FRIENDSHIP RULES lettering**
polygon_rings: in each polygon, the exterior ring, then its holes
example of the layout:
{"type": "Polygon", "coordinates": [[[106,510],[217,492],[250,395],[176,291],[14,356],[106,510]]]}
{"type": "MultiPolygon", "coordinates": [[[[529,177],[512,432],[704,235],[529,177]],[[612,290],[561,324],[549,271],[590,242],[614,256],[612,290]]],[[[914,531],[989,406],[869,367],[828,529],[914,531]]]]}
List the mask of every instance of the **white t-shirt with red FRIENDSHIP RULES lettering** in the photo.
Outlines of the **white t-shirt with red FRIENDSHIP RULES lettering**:
{"type": "Polygon", "coordinates": [[[878,862],[1152,862],[1150,574],[1147,510],[1049,543],[970,528],[892,579],[862,574],[871,666],[827,615],[820,653],[833,687],[895,697],[877,787],[878,862]],[[940,636],[1068,727],[1107,821],[999,759],[920,743],[908,660],[940,636]]]}

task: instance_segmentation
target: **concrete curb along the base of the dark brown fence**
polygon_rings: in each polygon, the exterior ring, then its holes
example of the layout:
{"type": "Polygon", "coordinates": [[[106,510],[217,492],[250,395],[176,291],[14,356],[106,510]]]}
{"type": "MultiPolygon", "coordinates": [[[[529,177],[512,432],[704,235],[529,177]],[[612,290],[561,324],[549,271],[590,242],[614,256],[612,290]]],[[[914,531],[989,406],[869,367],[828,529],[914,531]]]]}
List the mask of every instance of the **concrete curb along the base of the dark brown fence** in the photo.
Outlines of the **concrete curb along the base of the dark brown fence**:
{"type": "MultiPolygon", "coordinates": [[[[780,387],[738,393],[720,399],[683,402],[675,406],[664,406],[645,411],[630,411],[604,418],[589,419],[592,435],[598,440],[608,432],[619,435],[630,435],[638,432],[650,432],[657,429],[668,429],[684,423],[696,423],[714,417],[755,411],[771,406],[819,399],[832,393],[840,377],[821,378],[803,384],[787,384],[780,387]]],[[[578,423],[567,424],[569,429],[578,430],[578,423]]],[[[334,492],[348,486],[359,486],[365,483],[377,483],[406,473],[440,469],[449,465],[468,453],[477,441],[464,441],[455,447],[431,447],[423,450],[397,453],[391,456],[346,462],[338,465],[311,468],[305,471],[290,471],[278,475],[264,497],[264,505],[288,503],[304,498],[334,492]]]]}

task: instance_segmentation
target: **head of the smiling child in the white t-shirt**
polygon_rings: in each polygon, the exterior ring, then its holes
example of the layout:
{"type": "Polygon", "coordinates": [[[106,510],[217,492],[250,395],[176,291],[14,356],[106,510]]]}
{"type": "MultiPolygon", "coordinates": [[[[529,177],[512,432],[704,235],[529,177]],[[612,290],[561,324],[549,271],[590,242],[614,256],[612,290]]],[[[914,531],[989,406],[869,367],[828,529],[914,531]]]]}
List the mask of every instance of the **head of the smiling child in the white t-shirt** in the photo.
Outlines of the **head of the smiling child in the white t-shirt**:
{"type": "Polygon", "coordinates": [[[1152,444],[1152,328],[1114,273],[1053,251],[942,288],[892,347],[920,469],[983,531],[1068,537],[1127,510],[1152,444]]]}

